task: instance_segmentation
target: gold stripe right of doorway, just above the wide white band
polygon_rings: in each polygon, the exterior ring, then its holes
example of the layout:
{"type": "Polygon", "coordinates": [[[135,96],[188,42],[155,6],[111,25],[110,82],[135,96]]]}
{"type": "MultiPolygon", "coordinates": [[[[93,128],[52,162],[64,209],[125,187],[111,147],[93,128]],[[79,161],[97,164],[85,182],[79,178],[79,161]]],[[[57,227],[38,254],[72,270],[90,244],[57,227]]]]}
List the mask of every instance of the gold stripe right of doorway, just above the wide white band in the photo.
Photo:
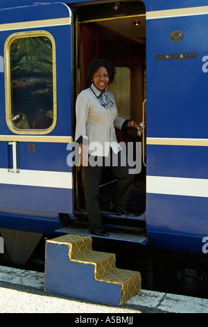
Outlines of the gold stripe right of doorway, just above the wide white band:
{"type": "Polygon", "coordinates": [[[188,145],[188,146],[208,146],[207,138],[147,138],[148,145],[188,145]]]}

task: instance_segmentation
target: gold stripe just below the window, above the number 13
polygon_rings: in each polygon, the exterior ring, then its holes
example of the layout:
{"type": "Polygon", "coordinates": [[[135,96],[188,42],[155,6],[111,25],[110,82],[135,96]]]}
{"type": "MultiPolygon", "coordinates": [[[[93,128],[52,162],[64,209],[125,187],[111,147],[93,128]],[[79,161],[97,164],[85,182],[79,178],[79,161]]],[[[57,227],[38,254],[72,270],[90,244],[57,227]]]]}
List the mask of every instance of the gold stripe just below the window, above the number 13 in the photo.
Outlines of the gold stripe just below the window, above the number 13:
{"type": "Polygon", "coordinates": [[[73,141],[73,138],[71,136],[0,135],[0,141],[69,143],[73,141]]]}

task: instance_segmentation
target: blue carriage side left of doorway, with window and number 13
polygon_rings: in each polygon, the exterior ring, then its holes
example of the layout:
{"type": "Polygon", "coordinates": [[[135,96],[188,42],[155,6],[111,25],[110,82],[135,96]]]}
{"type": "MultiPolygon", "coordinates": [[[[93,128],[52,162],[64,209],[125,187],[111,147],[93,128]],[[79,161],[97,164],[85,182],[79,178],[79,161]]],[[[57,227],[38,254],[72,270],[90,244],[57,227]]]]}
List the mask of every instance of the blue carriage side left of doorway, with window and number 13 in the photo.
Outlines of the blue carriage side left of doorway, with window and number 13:
{"type": "Polygon", "coordinates": [[[71,10],[51,3],[6,12],[0,10],[0,207],[70,214],[71,10]]]}

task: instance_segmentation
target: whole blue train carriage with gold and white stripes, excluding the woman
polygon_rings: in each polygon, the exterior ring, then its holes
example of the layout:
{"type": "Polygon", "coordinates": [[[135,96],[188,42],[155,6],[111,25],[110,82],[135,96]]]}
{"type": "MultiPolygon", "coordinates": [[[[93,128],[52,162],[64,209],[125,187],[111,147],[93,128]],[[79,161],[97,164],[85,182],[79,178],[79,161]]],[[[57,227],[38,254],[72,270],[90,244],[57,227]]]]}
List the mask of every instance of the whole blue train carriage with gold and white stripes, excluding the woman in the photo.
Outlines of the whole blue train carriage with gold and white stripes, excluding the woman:
{"type": "Polygon", "coordinates": [[[12,259],[26,262],[44,234],[87,228],[82,168],[67,158],[98,57],[116,65],[119,114],[145,126],[117,131],[141,143],[127,218],[106,207],[114,177],[101,182],[112,239],[207,253],[207,1],[16,2],[0,4],[0,232],[12,259]]]}

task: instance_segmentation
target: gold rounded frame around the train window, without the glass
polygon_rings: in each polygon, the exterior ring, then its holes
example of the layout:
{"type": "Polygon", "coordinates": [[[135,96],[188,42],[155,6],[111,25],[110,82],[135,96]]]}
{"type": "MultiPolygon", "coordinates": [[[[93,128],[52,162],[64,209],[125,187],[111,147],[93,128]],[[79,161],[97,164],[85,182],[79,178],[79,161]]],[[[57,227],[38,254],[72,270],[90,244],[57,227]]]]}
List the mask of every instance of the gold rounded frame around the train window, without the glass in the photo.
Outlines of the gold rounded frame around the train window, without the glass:
{"type": "Polygon", "coordinates": [[[56,88],[56,55],[55,40],[53,35],[47,31],[24,31],[12,33],[4,45],[4,74],[5,74],[5,105],[6,124],[15,134],[49,134],[55,128],[57,122],[57,88],[56,88]],[[52,70],[53,70],[53,122],[47,129],[18,129],[12,124],[12,102],[11,102],[11,79],[10,79],[10,45],[17,38],[46,36],[51,40],[52,45],[52,70]]]}

